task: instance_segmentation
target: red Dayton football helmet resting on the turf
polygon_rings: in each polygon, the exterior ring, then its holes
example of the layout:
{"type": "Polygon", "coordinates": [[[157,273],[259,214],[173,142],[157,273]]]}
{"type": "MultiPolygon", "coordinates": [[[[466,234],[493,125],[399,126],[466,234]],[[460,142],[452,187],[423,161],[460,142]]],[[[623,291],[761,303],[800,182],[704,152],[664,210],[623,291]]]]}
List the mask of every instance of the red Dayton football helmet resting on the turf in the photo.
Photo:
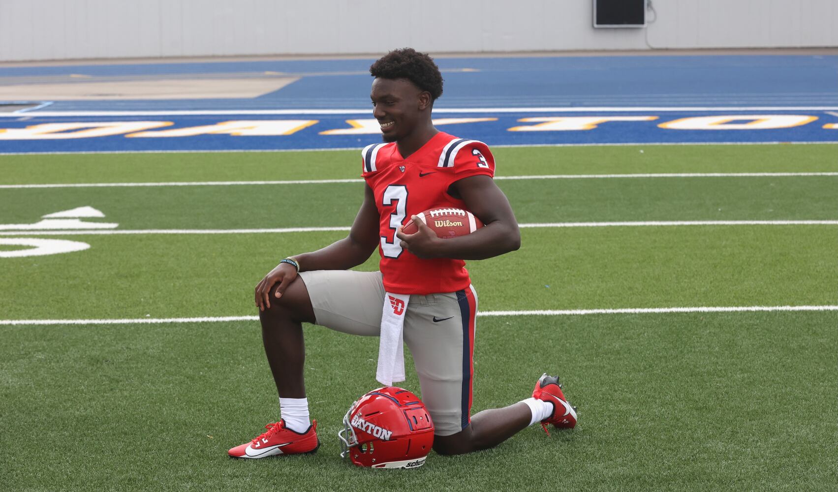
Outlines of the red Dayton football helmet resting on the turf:
{"type": "Polygon", "coordinates": [[[433,422],[418,396],[385,386],[361,396],[338,432],[342,458],[370,468],[412,469],[425,464],[433,446],[433,422]]]}

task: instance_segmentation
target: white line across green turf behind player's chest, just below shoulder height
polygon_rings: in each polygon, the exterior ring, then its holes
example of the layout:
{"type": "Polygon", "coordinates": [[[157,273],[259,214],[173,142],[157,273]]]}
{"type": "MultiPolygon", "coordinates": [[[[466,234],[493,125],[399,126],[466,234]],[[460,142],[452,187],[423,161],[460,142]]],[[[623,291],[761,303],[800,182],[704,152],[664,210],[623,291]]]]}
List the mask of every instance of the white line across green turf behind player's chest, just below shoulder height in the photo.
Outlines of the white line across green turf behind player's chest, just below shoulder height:
{"type": "MultiPolygon", "coordinates": [[[[838,173],[638,173],[638,174],[533,174],[495,176],[496,180],[517,179],[631,179],[631,178],[786,178],[800,176],[838,176],[838,173]]],[[[363,183],[364,179],[290,179],[284,181],[163,181],[159,183],[54,183],[0,184],[0,189],[29,188],[134,188],[154,186],[239,186],[282,184],[363,183]]]]}

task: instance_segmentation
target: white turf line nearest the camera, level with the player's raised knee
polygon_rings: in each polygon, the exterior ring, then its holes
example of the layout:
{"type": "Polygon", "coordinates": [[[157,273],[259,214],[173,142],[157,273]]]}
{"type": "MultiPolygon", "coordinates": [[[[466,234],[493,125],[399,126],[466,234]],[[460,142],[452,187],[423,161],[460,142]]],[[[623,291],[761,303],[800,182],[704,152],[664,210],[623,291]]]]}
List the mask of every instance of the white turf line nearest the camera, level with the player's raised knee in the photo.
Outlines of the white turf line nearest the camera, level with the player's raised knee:
{"type": "MultiPolygon", "coordinates": [[[[722,306],[694,308],[551,309],[540,311],[482,311],[478,316],[573,316],[584,314],[742,313],[778,311],[838,311],[838,306],[722,306]]],[[[258,321],[258,316],[204,316],[201,318],[137,319],[0,319],[0,325],[60,324],[175,324],[258,321]]]]}

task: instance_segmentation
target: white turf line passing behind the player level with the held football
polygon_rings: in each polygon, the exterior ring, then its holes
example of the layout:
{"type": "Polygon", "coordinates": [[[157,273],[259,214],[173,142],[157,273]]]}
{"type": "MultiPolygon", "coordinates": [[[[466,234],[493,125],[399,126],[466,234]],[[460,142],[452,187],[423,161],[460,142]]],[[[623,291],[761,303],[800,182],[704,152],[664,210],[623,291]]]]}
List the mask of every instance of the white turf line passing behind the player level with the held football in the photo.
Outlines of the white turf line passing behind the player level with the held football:
{"type": "MultiPolygon", "coordinates": [[[[546,222],[519,224],[522,229],[566,227],[671,227],[677,225],[838,225],[838,220],[660,220],[644,222],[546,222]]],[[[138,229],[138,230],[0,230],[0,236],[113,236],[158,234],[283,234],[348,231],[349,226],[285,227],[277,229],[138,229]]]]}

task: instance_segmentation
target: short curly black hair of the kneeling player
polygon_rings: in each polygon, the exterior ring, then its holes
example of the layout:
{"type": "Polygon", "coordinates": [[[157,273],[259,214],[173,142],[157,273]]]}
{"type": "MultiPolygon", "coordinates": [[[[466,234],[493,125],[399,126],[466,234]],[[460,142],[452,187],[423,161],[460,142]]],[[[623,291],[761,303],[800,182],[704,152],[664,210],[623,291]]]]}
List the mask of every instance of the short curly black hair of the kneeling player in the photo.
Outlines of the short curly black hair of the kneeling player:
{"type": "Polygon", "coordinates": [[[370,75],[382,79],[407,79],[422,91],[431,93],[431,99],[442,96],[442,74],[427,53],[416,49],[394,49],[370,65],[370,75]]]}

